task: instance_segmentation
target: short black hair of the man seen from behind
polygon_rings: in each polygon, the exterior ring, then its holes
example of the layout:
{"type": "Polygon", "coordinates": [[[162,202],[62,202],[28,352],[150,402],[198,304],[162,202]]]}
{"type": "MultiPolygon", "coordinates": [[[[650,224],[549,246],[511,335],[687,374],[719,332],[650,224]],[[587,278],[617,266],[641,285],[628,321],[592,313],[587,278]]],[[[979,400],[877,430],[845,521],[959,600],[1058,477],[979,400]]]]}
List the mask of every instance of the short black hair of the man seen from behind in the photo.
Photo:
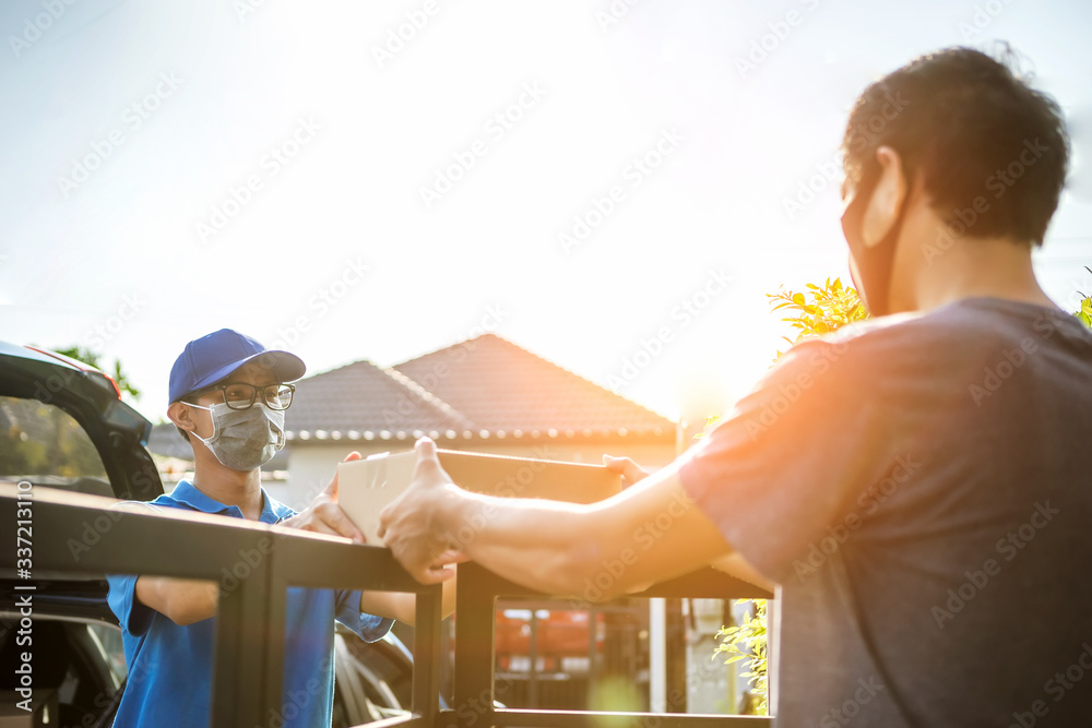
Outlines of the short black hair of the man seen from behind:
{"type": "Polygon", "coordinates": [[[972,237],[1042,244],[1065,186],[1069,135],[1058,104],[1014,70],[1012,50],[1001,45],[998,57],[947,48],[865,88],[842,142],[846,180],[867,187],[879,175],[876,150],[890,146],[909,180],[922,175],[945,223],[959,220],[972,237]]]}

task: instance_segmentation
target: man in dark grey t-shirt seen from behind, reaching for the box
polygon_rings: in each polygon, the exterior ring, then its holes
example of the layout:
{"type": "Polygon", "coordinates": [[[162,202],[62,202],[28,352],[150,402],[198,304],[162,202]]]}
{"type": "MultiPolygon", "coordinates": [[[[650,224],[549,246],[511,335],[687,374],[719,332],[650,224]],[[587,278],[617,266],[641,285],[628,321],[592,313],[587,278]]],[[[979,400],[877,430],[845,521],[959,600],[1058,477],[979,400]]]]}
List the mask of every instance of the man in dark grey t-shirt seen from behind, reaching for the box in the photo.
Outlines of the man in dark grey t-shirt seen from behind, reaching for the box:
{"type": "Polygon", "coordinates": [[[779,584],[787,728],[1088,725],[1092,333],[1031,259],[1066,179],[1061,111],[953,48],[868,86],[843,148],[875,321],[796,346],[710,437],[598,504],[470,493],[422,440],[381,536],[436,582],[443,535],[475,523],[462,558],[557,595],[734,556],[779,584]]]}

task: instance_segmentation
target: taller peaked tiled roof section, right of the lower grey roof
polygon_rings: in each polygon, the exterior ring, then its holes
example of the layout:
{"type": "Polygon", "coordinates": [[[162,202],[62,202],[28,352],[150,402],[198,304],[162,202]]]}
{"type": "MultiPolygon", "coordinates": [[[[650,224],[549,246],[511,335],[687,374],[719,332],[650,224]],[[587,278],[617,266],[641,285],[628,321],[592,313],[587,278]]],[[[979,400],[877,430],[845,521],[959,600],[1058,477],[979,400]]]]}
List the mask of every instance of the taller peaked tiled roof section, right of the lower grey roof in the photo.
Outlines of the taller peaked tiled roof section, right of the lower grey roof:
{"type": "Polygon", "coordinates": [[[495,334],[397,365],[489,432],[673,439],[675,423],[495,334]]]}

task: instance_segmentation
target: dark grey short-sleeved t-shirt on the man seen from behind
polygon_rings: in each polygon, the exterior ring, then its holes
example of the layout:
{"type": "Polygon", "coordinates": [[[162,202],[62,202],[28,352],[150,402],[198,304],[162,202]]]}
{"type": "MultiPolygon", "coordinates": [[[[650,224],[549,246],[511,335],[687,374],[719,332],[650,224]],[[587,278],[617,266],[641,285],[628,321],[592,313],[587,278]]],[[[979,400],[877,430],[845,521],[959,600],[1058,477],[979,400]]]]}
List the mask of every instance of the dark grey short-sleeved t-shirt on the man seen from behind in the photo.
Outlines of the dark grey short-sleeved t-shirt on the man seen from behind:
{"type": "Polygon", "coordinates": [[[781,584],[778,723],[1092,725],[1092,334],[990,298],[794,347],[686,457],[781,584]]]}

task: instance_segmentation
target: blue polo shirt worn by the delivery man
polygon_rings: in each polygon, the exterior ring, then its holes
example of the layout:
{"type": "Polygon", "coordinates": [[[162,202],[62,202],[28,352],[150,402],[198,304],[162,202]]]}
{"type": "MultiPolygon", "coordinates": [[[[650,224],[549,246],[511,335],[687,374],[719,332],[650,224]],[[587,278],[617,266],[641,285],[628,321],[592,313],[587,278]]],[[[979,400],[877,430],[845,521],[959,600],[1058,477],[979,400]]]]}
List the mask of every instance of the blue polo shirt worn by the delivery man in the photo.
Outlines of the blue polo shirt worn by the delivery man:
{"type": "MultiPolygon", "coordinates": [[[[295,515],[262,489],[260,521],[273,524],[295,515]]],[[[237,505],[224,505],[182,480],[152,506],[183,509],[241,518],[237,505]]],[[[179,554],[185,558],[185,554],[179,554]]],[[[246,559],[228,568],[246,576],[246,559]]],[[[223,585],[230,587],[229,576],[223,585]]],[[[121,623],[129,680],[118,707],[116,728],[182,726],[205,728],[212,701],[216,618],[179,626],[135,598],[136,576],[108,574],[110,609],[121,623]]],[[[284,702],[265,718],[270,728],[329,726],[334,697],[334,619],[368,642],[394,623],[360,612],[360,592],[288,589],[284,653],[284,702]]],[[[249,726],[247,727],[249,728],[249,726]]]]}

